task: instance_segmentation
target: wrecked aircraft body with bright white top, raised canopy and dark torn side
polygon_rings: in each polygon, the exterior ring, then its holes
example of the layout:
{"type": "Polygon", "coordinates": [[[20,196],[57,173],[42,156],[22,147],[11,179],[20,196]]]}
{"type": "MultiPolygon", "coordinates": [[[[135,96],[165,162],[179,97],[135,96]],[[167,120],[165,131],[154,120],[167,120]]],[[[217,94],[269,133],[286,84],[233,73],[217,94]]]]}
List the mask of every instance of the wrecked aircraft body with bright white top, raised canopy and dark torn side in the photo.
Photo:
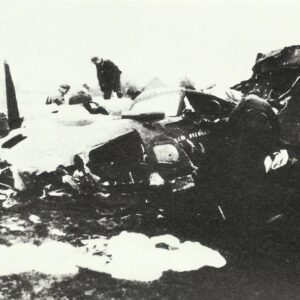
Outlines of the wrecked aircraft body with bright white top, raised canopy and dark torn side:
{"type": "Polygon", "coordinates": [[[146,90],[121,116],[90,114],[81,105],[66,105],[47,118],[25,122],[1,139],[4,182],[24,190],[61,177],[61,182],[76,187],[77,172],[84,178],[89,174],[105,191],[189,189],[195,185],[195,163],[205,161],[198,155],[205,157],[207,151],[198,140],[207,139],[208,127],[234,106],[209,94],[166,88],[146,90]],[[196,112],[196,122],[188,111],[183,113],[184,99],[196,112]]]}

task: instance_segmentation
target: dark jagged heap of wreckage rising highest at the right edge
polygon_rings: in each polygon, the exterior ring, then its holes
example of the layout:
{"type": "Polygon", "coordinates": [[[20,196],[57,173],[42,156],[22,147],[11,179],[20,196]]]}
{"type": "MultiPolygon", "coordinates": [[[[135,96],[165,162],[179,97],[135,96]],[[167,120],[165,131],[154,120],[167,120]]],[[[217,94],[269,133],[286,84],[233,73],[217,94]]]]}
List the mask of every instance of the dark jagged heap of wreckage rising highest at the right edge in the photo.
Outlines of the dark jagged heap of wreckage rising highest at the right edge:
{"type": "Polygon", "coordinates": [[[232,89],[245,95],[255,93],[268,101],[277,112],[281,140],[287,147],[298,147],[300,46],[285,47],[267,54],[258,53],[252,70],[250,79],[232,89]]]}

